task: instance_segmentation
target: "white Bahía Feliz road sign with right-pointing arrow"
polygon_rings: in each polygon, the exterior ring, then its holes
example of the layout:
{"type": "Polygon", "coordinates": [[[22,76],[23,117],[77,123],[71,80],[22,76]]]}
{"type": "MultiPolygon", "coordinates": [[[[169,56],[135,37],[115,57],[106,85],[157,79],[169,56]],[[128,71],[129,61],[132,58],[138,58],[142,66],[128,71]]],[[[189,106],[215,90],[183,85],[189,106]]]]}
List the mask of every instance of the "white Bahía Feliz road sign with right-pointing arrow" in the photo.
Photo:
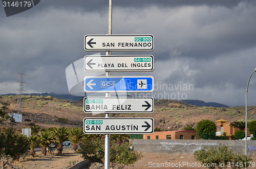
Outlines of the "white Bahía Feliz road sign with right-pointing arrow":
{"type": "Polygon", "coordinates": [[[153,113],[153,98],[104,98],[90,97],[83,99],[83,111],[86,113],[153,113]]]}

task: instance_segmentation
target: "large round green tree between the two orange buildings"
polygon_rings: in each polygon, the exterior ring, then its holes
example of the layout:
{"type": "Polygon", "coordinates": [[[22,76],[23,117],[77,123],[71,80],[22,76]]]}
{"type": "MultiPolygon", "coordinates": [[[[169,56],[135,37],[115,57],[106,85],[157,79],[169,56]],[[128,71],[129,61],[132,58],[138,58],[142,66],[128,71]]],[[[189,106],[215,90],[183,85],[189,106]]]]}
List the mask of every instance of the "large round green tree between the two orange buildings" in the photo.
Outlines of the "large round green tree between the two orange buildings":
{"type": "Polygon", "coordinates": [[[202,139],[213,139],[216,137],[217,126],[208,119],[203,119],[197,123],[196,132],[202,139]]]}

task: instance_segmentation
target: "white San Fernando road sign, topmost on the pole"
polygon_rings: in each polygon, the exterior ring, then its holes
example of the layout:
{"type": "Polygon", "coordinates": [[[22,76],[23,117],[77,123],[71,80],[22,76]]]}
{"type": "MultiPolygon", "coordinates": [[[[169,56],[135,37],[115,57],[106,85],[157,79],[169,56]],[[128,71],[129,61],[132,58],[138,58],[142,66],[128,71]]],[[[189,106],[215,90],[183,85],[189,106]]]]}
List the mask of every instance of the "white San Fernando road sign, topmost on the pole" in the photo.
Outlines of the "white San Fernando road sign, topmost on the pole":
{"type": "Polygon", "coordinates": [[[86,51],[153,51],[153,35],[86,35],[86,51]]]}

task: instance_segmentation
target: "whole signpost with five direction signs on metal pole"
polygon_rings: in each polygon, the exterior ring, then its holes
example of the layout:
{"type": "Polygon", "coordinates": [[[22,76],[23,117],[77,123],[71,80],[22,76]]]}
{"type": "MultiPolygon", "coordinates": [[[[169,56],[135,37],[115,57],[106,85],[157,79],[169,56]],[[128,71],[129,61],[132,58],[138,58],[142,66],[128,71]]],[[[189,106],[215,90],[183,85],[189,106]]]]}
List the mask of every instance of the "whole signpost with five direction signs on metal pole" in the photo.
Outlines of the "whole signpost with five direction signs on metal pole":
{"type": "Polygon", "coordinates": [[[154,111],[153,98],[111,98],[110,92],[152,92],[152,76],[111,76],[111,71],[153,71],[152,55],[111,56],[111,51],[153,51],[153,35],[112,35],[112,0],[109,1],[109,35],[84,36],[84,50],[105,51],[106,56],[85,56],[84,70],[105,71],[104,77],[84,77],[84,91],[106,92],[105,98],[84,98],[84,112],[105,112],[105,118],[84,118],[83,132],[105,134],[104,168],[110,168],[110,134],[154,133],[153,118],[110,118],[110,112],[154,111]]]}

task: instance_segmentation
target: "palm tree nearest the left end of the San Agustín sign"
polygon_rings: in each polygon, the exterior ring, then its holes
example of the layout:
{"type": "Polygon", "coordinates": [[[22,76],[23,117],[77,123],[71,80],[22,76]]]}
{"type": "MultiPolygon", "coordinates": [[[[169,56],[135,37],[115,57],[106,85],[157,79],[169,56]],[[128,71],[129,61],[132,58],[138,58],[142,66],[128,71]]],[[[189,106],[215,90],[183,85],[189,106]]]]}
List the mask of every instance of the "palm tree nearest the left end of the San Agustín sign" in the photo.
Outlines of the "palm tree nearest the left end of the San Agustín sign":
{"type": "Polygon", "coordinates": [[[79,141],[82,140],[84,136],[84,133],[82,131],[82,128],[69,128],[69,140],[73,146],[73,150],[77,150],[77,144],[79,141]]]}

